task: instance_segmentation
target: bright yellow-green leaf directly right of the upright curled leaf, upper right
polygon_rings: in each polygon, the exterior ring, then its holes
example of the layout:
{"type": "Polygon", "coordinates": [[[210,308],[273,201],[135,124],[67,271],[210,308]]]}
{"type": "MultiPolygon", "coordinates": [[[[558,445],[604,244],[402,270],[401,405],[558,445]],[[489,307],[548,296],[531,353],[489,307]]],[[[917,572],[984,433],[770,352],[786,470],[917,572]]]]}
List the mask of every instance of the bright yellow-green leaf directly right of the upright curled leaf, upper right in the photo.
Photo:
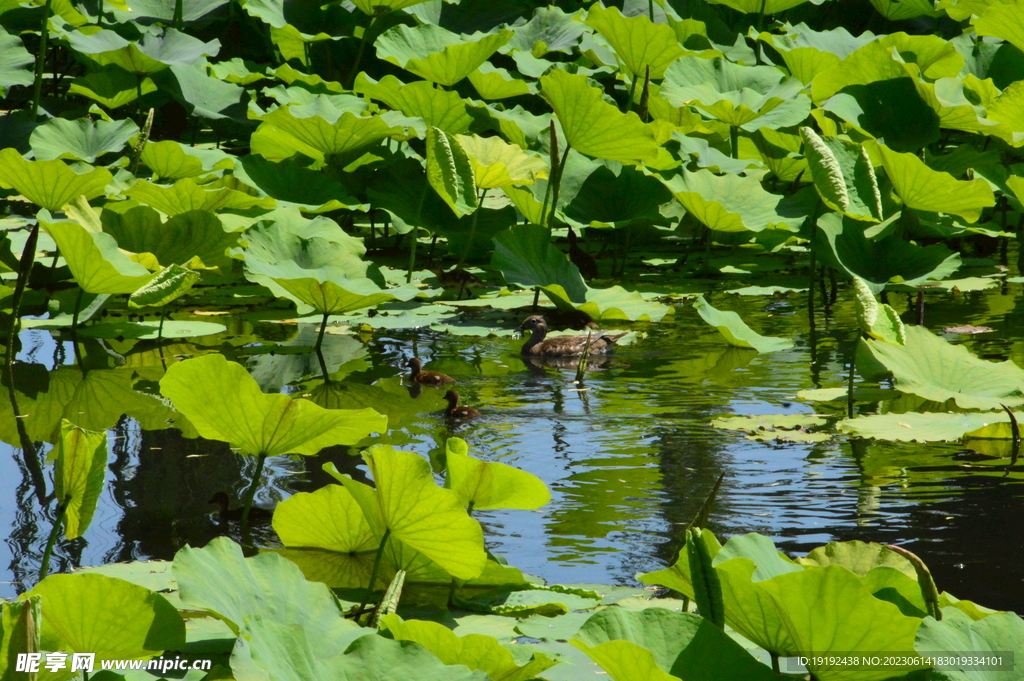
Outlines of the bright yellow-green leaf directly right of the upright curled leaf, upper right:
{"type": "Polygon", "coordinates": [[[976,222],[983,208],[995,205],[992,187],[983,179],[963,181],[932,170],[913,154],[899,154],[879,144],[886,174],[908,208],[959,215],[976,222]]]}

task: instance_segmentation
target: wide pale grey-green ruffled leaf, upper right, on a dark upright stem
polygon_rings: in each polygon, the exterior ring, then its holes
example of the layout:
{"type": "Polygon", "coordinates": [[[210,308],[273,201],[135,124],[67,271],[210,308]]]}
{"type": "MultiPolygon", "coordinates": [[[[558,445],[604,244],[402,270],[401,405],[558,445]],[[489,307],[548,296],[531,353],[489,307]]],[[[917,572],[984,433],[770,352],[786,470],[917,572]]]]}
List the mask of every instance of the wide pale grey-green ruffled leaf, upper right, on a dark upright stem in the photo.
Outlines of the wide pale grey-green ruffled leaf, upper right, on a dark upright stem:
{"type": "Polygon", "coordinates": [[[743,67],[721,57],[684,56],[665,72],[660,96],[676,107],[693,105],[744,130],[784,128],[811,110],[803,83],[774,67],[743,67]]]}

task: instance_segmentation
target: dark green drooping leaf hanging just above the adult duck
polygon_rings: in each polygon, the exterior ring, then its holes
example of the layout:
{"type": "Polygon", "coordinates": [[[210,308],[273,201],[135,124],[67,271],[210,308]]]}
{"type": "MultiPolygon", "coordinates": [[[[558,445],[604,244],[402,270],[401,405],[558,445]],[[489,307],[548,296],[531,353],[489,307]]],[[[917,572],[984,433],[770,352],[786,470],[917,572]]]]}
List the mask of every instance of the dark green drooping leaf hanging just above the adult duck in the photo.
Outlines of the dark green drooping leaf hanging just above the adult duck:
{"type": "Polygon", "coordinates": [[[580,269],[555,248],[547,228],[517,225],[496,235],[494,242],[490,264],[501,270],[505,281],[527,288],[556,285],[573,303],[586,301],[587,285],[580,269]]]}

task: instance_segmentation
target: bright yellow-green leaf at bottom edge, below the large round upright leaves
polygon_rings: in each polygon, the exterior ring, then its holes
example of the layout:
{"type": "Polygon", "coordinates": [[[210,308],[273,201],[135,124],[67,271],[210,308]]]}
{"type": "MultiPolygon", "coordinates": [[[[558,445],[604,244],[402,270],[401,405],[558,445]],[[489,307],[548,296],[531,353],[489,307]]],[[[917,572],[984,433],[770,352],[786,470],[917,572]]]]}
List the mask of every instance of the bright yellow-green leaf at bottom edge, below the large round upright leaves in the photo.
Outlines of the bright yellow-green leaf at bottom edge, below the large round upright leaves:
{"type": "Polygon", "coordinates": [[[381,624],[397,641],[415,641],[437,655],[445,665],[464,665],[485,672],[494,681],[528,681],[557,663],[544,653],[530,655],[523,666],[516,665],[512,651],[502,647],[493,636],[484,634],[457,635],[436,622],[402,621],[388,614],[381,624]]]}

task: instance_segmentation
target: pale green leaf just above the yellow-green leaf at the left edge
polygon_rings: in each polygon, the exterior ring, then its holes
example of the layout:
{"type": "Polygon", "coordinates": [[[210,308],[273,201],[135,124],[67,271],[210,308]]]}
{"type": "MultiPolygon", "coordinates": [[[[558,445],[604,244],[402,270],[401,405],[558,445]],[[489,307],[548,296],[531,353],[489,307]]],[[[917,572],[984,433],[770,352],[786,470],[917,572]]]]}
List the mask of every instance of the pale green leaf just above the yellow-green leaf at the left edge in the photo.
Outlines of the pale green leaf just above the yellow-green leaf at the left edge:
{"type": "Polygon", "coordinates": [[[39,161],[75,159],[94,163],[108,152],[120,152],[138,133],[132,121],[67,121],[55,118],[36,128],[32,152],[39,161]]]}

